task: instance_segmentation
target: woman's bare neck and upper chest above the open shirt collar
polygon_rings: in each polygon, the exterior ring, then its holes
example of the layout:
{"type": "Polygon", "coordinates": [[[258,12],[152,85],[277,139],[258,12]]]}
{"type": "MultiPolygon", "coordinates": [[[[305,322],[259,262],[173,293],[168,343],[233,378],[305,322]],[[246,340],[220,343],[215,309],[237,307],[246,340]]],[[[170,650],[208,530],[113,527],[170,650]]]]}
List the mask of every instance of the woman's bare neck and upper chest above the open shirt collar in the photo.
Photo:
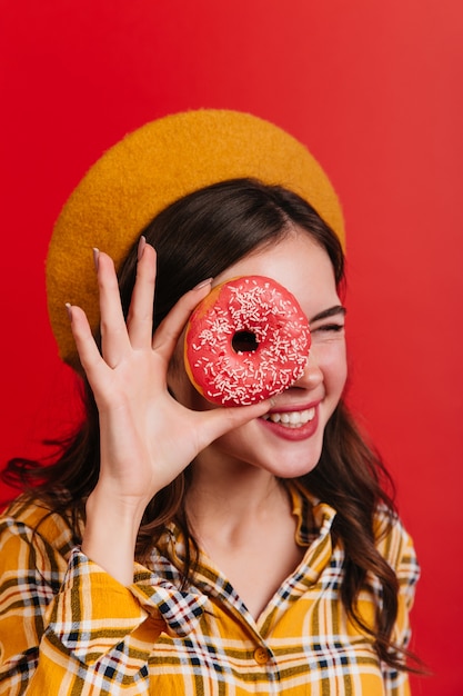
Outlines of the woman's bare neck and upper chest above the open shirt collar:
{"type": "Polygon", "coordinates": [[[202,551],[256,618],[302,560],[296,520],[288,491],[269,471],[214,464],[193,469],[189,521],[202,551]]]}

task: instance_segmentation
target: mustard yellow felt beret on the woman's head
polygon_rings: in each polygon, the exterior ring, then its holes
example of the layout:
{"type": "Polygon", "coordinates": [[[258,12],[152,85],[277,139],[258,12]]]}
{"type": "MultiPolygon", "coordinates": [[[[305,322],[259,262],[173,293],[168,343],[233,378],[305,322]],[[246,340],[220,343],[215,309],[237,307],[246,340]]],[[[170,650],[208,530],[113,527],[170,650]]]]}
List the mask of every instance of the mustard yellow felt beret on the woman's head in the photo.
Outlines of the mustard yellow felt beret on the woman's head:
{"type": "Polygon", "coordinates": [[[93,330],[99,302],[91,249],[119,269],[144,227],[167,206],[205,186],[252,177],[299,193],[344,245],[336,193],[298,140],[249,113],[200,109],[167,116],[125,136],[90,168],[56,222],[47,257],[47,296],[60,357],[79,360],[64,304],[82,307],[93,330]]]}

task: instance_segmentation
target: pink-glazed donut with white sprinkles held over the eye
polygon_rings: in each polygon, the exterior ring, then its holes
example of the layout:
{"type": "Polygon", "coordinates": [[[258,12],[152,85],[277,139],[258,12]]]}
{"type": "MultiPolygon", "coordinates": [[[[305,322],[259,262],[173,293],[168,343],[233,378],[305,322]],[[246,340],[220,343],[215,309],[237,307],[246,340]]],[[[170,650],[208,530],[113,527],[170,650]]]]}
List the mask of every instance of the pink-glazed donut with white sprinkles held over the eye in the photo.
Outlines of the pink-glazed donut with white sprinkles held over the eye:
{"type": "Polygon", "coordinates": [[[212,288],[187,325],[184,364],[209,401],[246,406],[280,394],[305,368],[311,336],[295,297],[264,276],[212,288]]]}

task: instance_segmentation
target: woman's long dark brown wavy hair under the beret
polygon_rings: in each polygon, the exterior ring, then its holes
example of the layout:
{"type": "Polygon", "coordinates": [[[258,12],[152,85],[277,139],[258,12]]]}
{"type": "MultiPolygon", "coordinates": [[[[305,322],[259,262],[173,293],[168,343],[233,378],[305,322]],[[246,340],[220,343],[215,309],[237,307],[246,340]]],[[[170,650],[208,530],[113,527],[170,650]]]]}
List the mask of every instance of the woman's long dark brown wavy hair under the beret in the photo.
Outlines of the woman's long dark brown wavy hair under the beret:
{"type": "MultiPolygon", "coordinates": [[[[316,211],[295,193],[256,180],[235,179],[193,192],[172,203],[142,231],[158,253],[154,330],[178,299],[201,280],[218,276],[256,248],[269,247],[298,226],[329,255],[338,288],[344,284],[344,256],[335,233],[316,211]]],[[[134,247],[120,271],[120,292],[125,316],[137,268],[134,247]]],[[[99,477],[100,443],[98,411],[91,390],[83,380],[82,398],[87,417],[72,437],[54,443],[59,455],[51,466],[16,458],[2,478],[20,486],[23,496],[41,500],[51,511],[71,520],[76,541],[84,521],[85,499],[99,477]]],[[[184,568],[185,583],[194,574],[198,546],[184,509],[191,467],[163,488],[148,505],[139,530],[137,558],[147,560],[165,525],[175,520],[190,541],[191,554],[184,568]]],[[[399,669],[406,669],[405,655],[392,644],[397,615],[397,579],[378,551],[374,517],[379,506],[395,510],[390,477],[378,455],[365,443],[341,400],[330,418],[320,463],[299,484],[336,509],[333,535],[345,548],[342,603],[351,618],[374,638],[379,657],[399,669]],[[389,493],[387,493],[389,491],[389,493]],[[374,629],[362,623],[356,599],[374,574],[382,587],[374,629]]]]}

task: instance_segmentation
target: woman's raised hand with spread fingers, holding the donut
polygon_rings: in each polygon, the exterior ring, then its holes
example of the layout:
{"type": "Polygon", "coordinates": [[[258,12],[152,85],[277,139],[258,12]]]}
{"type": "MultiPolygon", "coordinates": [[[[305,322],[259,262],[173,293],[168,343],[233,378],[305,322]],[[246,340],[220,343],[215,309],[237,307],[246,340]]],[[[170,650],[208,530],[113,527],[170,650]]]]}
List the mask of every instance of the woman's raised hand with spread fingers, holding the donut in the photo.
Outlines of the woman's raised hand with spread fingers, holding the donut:
{"type": "Polygon", "coordinates": [[[152,337],[155,252],[144,243],[125,324],[114,266],[98,253],[102,347],[99,351],[82,309],[71,307],[71,326],[100,417],[101,471],[92,497],[132,510],[141,520],[150,499],[225,431],[261,416],[269,402],[192,411],[167,387],[168,366],[183,327],[210,290],[187,292],[152,337]]]}

